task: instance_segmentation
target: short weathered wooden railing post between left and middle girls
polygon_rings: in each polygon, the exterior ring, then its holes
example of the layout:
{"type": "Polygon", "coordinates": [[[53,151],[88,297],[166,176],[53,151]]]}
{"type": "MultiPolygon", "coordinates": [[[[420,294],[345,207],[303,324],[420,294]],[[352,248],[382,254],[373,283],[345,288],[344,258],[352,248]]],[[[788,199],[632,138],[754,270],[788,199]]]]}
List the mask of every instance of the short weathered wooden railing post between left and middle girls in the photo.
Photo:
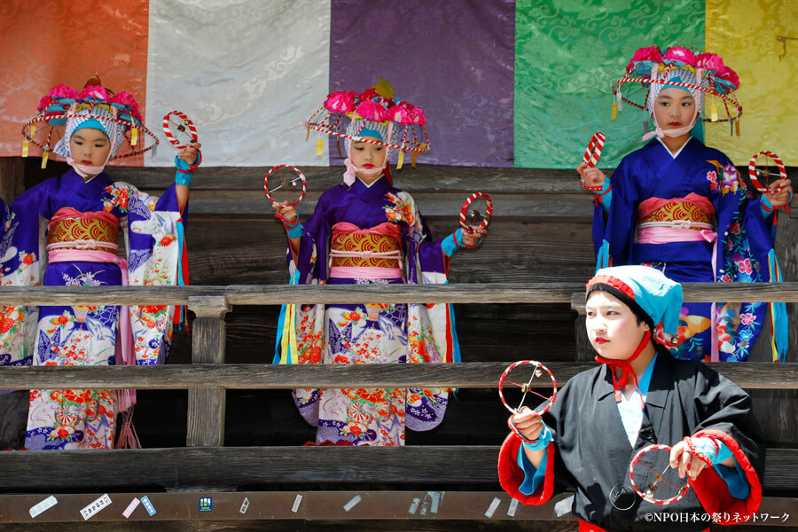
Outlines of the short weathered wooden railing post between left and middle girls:
{"type": "MultiPolygon", "coordinates": [[[[192,323],[192,364],[224,364],[224,340],[227,325],[224,315],[230,305],[223,296],[189,298],[189,309],[196,318],[192,323]]],[[[191,388],[188,391],[189,447],[224,445],[224,387],[191,388]]]]}

